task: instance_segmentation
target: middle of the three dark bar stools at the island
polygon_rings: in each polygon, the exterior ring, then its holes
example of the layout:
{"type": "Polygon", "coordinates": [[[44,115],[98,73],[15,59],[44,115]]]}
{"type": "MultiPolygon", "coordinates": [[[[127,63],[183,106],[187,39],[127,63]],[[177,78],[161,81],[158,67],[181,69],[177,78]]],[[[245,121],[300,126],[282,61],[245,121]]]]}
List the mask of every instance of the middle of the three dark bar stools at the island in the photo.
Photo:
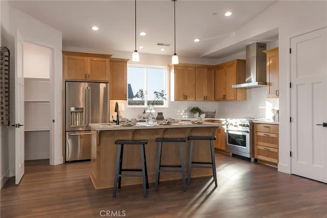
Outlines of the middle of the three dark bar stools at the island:
{"type": "Polygon", "coordinates": [[[180,172],[180,173],[182,173],[183,191],[186,191],[185,167],[184,167],[183,144],[182,144],[183,142],[186,141],[185,138],[156,138],[155,141],[159,142],[159,149],[158,149],[158,160],[157,160],[157,169],[156,169],[154,190],[155,191],[158,190],[160,172],[169,172],[169,173],[180,172]],[[161,165],[162,142],[179,142],[181,165],[161,165]],[[161,169],[161,167],[180,167],[181,169],[161,169]]]}

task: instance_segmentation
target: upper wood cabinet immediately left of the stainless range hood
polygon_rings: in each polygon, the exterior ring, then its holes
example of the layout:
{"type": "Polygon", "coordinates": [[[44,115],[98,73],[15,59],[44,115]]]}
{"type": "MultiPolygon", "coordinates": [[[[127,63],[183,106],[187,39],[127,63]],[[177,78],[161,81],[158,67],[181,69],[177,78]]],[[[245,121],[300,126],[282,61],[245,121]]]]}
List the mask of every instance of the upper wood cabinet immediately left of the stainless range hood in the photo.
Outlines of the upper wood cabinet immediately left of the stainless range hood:
{"type": "Polygon", "coordinates": [[[246,100],[245,88],[232,88],[232,85],[245,83],[245,60],[233,60],[216,65],[215,100],[246,100]]]}

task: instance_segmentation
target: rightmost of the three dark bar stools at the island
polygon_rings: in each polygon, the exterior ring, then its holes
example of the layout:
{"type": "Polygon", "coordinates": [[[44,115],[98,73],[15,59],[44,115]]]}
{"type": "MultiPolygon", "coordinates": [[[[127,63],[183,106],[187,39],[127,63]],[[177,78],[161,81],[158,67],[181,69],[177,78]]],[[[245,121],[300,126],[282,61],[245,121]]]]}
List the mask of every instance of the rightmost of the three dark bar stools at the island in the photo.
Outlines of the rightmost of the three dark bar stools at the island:
{"type": "Polygon", "coordinates": [[[217,174],[216,174],[215,148],[214,148],[214,142],[213,142],[213,140],[216,140],[216,136],[189,136],[189,140],[191,140],[191,149],[190,149],[188,184],[190,185],[190,183],[191,183],[192,168],[212,168],[213,169],[214,180],[215,180],[215,187],[217,187],[218,185],[217,185],[217,174]],[[192,161],[194,140],[210,140],[211,162],[192,161]],[[193,165],[193,164],[211,164],[211,166],[193,165]]]}

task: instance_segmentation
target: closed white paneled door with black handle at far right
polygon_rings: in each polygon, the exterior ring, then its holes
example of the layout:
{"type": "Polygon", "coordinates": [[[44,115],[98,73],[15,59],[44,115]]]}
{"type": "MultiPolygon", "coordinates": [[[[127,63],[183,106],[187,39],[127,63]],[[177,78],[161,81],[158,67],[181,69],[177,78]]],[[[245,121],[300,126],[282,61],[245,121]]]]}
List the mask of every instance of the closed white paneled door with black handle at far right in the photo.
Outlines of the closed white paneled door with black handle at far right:
{"type": "Polygon", "coordinates": [[[291,173],[327,183],[327,28],[291,49],[291,173]]]}

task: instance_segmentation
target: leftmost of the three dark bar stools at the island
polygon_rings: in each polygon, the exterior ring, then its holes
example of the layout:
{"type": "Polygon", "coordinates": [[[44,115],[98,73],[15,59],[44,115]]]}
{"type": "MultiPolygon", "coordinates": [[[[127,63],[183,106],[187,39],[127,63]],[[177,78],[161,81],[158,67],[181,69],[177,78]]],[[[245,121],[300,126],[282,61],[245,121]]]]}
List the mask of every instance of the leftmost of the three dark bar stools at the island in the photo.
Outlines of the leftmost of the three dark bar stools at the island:
{"type": "Polygon", "coordinates": [[[145,144],[148,143],[148,140],[116,140],[114,142],[118,144],[118,152],[117,152],[117,160],[116,160],[116,169],[114,175],[114,183],[113,183],[113,192],[112,198],[116,197],[117,190],[117,182],[118,188],[121,188],[122,177],[143,177],[143,195],[144,198],[147,197],[147,188],[149,188],[148,182],[148,172],[147,172],[147,160],[145,156],[145,144]],[[123,169],[123,152],[124,152],[124,144],[132,144],[132,145],[141,145],[141,162],[142,169],[123,169]],[[142,171],[142,174],[122,174],[123,171],[135,172],[142,171]]]}

